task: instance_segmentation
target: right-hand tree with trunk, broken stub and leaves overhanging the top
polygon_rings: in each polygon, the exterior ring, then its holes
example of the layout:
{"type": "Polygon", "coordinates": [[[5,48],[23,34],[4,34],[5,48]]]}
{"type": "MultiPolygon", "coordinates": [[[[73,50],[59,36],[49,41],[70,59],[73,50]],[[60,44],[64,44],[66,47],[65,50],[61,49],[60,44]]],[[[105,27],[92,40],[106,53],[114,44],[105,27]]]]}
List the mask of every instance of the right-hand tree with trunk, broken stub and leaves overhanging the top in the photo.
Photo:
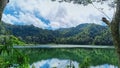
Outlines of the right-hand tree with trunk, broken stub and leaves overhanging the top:
{"type": "MultiPolygon", "coordinates": [[[[73,2],[74,4],[88,5],[88,4],[93,4],[93,2],[103,2],[103,1],[109,1],[109,0],[52,0],[52,1],[58,1],[60,3],[73,2]]],[[[115,6],[116,8],[112,21],[107,20],[105,17],[102,18],[102,21],[105,22],[111,29],[113,42],[116,48],[116,52],[118,54],[118,65],[120,68],[120,0],[113,0],[111,4],[112,4],[111,7],[115,6]]]]}

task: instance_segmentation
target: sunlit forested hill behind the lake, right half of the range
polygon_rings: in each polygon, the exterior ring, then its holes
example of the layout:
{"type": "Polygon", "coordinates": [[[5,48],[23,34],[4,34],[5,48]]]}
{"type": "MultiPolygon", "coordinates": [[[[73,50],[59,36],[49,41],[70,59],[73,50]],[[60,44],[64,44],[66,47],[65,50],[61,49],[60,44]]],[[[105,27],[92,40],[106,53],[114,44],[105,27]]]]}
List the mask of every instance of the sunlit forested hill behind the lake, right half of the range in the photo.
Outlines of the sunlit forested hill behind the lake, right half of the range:
{"type": "Polygon", "coordinates": [[[71,44],[72,42],[72,44],[112,45],[110,31],[106,26],[81,24],[71,28],[70,31],[67,31],[68,30],[60,32],[66,33],[64,34],[64,37],[57,38],[58,43],[71,44]]]}

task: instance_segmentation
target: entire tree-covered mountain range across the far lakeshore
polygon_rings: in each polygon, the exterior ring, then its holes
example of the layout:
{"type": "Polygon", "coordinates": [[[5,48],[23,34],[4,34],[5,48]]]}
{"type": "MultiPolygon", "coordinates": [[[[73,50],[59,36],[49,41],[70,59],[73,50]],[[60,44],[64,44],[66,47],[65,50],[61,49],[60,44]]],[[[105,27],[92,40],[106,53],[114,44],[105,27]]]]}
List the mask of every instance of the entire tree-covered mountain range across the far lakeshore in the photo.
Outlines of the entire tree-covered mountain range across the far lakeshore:
{"type": "Polygon", "coordinates": [[[10,25],[6,28],[26,43],[112,45],[110,30],[97,24],[80,24],[72,28],[47,30],[33,25],[10,25]]]}

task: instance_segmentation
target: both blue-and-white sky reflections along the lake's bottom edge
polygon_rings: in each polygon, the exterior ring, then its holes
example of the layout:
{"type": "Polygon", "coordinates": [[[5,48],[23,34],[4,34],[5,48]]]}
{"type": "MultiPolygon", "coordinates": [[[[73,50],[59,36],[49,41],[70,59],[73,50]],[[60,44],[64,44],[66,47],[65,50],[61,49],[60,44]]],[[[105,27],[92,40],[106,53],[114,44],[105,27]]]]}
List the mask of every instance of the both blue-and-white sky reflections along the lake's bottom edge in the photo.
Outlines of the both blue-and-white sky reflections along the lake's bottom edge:
{"type": "MultiPolygon", "coordinates": [[[[74,66],[74,68],[79,68],[79,63],[76,61],[72,61],[69,59],[48,59],[48,60],[42,60],[38,62],[34,62],[30,68],[71,68],[74,66]]],[[[118,68],[114,65],[109,64],[103,64],[103,65],[97,65],[97,66],[90,66],[89,68],[118,68]]]]}

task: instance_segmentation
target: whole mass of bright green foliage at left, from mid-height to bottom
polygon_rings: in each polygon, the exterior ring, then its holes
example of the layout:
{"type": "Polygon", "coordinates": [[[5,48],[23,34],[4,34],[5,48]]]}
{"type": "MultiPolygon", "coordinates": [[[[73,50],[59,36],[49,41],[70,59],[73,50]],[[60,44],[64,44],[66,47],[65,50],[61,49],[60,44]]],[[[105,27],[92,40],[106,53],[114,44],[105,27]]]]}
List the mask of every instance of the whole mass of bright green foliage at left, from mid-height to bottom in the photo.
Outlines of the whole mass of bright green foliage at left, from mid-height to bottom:
{"type": "Polygon", "coordinates": [[[16,65],[20,68],[28,68],[28,58],[24,54],[13,49],[14,45],[23,44],[24,42],[13,35],[0,35],[0,68],[14,67],[16,65]],[[22,62],[20,63],[19,60],[22,62]]]}

